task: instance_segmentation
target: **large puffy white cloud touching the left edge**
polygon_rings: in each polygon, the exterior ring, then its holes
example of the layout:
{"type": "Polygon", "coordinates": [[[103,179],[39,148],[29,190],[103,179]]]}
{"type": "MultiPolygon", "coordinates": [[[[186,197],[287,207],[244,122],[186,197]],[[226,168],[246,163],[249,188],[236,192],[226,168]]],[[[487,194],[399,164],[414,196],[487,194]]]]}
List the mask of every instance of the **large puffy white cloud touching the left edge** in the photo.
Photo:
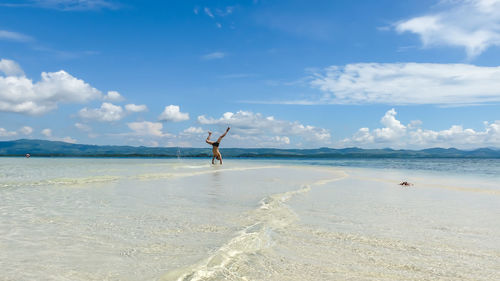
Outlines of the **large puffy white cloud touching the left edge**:
{"type": "Polygon", "coordinates": [[[59,103],[84,103],[101,97],[99,90],[64,70],[42,72],[41,80],[33,83],[17,64],[2,61],[1,72],[10,75],[0,75],[0,111],[38,115],[56,109],[59,103]]]}

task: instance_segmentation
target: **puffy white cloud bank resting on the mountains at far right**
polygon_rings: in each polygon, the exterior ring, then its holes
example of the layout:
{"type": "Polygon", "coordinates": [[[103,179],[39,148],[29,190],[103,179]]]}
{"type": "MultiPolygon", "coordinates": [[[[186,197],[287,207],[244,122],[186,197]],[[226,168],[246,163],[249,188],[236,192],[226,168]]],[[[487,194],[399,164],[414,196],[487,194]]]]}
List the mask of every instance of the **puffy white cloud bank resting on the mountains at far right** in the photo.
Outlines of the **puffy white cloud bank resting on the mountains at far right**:
{"type": "Polygon", "coordinates": [[[461,125],[434,131],[420,128],[421,121],[412,121],[408,125],[401,124],[396,119],[396,111],[391,109],[385,113],[380,123],[384,127],[373,130],[361,128],[352,137],[342,140],[339,145],[365,148],[456,147],[462,149],[500,146],[500,120],[492,123],[484,122],[482,131],[464,129],[461,125]]]}

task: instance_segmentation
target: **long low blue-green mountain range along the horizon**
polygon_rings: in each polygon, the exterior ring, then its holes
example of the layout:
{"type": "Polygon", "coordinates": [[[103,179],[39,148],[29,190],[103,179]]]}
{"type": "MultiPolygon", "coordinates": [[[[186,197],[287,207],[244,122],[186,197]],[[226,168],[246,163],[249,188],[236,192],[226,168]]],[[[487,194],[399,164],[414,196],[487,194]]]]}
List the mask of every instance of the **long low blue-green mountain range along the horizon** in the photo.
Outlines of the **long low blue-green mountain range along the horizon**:
{"type": "MultiPolygon", "coordinates": [[[[500,158],[500,150],[480,148],[458,150],[456,148],[429,148],[422,150],[318,148],[221,148],[224,157],[253,158],[500,158]]],[[[210,147],[145,147],[117,145],[71,144],[60,141],[28,140],[0,141],[0,156],[49,157],[211,157],[210,147]]]]}

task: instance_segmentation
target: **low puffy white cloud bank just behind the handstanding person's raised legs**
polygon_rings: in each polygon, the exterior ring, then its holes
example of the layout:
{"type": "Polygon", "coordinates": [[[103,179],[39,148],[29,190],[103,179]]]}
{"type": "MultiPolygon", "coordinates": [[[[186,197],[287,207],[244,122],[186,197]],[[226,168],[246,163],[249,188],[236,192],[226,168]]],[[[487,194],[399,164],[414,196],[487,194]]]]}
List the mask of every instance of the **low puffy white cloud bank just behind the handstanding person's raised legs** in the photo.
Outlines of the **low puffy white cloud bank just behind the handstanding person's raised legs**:
{"type": "Polygon", "coordinates": [[[290,137],[324,145],[330,143],[331,137],[330,132],[323,128],[303,125],[297,121],[278,120],[273,116],[249,111],[226,112],[218,119],[201,115],[198,116],[198,122],[203,125],[231,126],[232,137],[246,140],[254,146],[262,146],[264,141],[290,144],[290,137]]]}

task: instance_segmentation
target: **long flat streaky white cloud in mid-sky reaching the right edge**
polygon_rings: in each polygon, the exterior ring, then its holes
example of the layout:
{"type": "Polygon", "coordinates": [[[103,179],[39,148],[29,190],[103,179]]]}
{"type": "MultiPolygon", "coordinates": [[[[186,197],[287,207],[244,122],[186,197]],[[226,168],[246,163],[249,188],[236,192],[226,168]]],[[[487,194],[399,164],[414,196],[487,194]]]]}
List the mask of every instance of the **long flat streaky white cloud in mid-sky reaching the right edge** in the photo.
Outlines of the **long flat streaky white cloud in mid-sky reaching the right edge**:
{"type": "Polygon", "coordinates": [[[500,67],[435,63],[331,66],[311,81],[317,103],[461,105],[500,101],[500,67]]]}

